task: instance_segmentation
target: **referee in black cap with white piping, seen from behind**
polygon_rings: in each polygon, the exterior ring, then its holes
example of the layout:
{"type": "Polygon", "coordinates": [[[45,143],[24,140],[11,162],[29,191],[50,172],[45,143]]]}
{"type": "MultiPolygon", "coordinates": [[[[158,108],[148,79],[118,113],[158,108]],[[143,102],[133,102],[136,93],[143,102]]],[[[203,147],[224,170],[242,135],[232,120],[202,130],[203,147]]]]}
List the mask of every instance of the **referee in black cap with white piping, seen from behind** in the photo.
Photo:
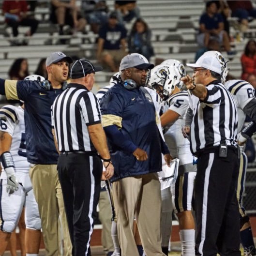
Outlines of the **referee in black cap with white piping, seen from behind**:
{"type": "Polygon", "coordinates": [[[90,256],[93,217],[100,195],[102,162],[104,179],[114,173],[106,137],[101,125],[100,106],[90,92],[94,74],[102,67],[76,60],[70,68],[71,83],[52,105],[52,125],[60,151],[59,179],[73,244],[73,256],[90,256]]]}

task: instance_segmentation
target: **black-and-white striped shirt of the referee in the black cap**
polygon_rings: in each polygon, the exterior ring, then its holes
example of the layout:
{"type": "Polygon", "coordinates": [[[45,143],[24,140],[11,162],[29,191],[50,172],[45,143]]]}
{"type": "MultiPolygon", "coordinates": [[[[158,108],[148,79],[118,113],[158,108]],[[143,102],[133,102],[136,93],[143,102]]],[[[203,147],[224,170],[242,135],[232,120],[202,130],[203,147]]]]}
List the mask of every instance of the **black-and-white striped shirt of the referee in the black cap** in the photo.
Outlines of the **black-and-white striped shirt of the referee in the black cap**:
{"type": "Polygon", "coordinates": [[[80,84],[69,84],[52,105],[52,126],[59,151],[96,151],[87,126],[101,122],[96,96],[80,84]]]}

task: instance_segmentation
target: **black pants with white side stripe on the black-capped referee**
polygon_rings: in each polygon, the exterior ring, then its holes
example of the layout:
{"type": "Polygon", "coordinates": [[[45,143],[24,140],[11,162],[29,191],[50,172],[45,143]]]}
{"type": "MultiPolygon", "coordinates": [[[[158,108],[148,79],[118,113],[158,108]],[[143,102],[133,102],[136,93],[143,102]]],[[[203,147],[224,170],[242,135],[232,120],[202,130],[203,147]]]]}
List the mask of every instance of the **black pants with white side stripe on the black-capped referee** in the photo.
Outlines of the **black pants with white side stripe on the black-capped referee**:
{"type": "Polygon", "coordinates": [[[90,256],[90,236],[101,189],[102,162],[88,154],[60,154],[58,173],[73,256],[90,256]]]}

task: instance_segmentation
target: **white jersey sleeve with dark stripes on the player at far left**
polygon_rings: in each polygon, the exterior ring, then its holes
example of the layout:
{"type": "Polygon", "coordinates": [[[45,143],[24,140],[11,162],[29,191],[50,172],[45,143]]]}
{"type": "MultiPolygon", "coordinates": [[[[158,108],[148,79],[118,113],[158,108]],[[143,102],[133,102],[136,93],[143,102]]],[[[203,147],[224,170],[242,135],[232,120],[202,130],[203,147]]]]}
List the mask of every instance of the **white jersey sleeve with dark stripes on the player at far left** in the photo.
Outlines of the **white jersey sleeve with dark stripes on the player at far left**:
{"type": "Polygon", "coordinates": [[[12,105],[6,105],[0,109],[0,131],[13,136],[17,122],[17,114],[12,105]]]}

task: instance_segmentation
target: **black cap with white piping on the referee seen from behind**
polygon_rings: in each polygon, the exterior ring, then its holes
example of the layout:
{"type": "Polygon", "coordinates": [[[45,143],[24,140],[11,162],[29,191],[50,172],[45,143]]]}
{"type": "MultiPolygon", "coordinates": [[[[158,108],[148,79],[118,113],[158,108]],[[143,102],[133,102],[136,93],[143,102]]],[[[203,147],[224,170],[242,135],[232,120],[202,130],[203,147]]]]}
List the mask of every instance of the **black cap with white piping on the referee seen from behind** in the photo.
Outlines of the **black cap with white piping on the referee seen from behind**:
{"type": "Polygon", "coordinates": [[[86,59],[75,60],[75,62],[70,67],[69,77],[71,79],[80,78],[90,73],[95,73],[101,70],[103,70],[103,67],[101,66],[95,67],[89,60],[86,60],[86,59]]]}

